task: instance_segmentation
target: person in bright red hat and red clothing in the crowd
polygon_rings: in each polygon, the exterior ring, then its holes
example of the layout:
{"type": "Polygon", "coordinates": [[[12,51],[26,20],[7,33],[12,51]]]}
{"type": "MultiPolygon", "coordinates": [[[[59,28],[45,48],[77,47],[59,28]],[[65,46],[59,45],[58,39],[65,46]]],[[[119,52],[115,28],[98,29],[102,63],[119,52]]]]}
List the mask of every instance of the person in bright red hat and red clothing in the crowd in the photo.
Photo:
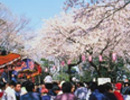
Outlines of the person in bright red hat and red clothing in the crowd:
{"type": "Polygon", "coordinates": [[[115,84],[115,91],[114,91],[114,95],[116,96],[117,100],[124,100],[122,94],[121,94],[121,88],[122,88],[122,84],[121,83],[116,83],[115,84]]]}

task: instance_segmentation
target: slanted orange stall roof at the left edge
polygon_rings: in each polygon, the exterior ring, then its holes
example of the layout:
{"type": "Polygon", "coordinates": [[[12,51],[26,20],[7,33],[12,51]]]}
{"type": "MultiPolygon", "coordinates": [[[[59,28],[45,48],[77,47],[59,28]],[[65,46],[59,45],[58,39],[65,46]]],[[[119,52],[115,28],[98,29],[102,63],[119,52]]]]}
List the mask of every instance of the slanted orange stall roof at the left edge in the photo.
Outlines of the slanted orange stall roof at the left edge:
{"type": "Polygon", "coordinates": [[[0,55],[0,68],[3,68],[9,64],[20,59],[20,55],[16,53],[10,53],[8,55],[0,55]]]}

